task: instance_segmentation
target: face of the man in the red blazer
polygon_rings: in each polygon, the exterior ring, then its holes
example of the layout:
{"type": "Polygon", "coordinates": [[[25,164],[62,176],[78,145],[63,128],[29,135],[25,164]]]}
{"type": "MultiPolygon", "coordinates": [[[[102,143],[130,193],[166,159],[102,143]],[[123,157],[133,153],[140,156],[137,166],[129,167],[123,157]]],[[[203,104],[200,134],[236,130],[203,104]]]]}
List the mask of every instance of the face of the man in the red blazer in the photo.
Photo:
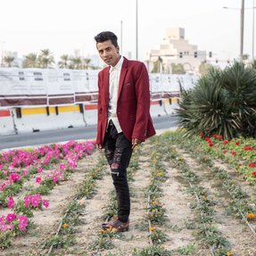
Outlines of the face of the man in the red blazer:
{"type": "Polygon", "coordinates": [[[107,65],[115,66],[120,60],[119,46],[111,44],[111,40],[107,40],[103,43],[97,43],[97,50],[100,54],[101,59],[107,65]]]}

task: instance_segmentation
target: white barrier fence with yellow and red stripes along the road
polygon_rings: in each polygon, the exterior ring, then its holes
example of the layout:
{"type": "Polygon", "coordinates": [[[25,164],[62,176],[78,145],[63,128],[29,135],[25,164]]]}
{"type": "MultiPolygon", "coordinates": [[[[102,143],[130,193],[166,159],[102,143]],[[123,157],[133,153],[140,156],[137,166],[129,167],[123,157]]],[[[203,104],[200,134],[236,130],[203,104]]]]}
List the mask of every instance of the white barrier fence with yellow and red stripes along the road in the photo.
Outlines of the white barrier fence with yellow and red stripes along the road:
{"type": "MultiPolygon", "coordinates": [[[[0,69],[0,136],[97,122],[98,70],[0,69]]],[[[197,77],[149,74],[153,117],[178,108],[180,87],[197,77]]]]}

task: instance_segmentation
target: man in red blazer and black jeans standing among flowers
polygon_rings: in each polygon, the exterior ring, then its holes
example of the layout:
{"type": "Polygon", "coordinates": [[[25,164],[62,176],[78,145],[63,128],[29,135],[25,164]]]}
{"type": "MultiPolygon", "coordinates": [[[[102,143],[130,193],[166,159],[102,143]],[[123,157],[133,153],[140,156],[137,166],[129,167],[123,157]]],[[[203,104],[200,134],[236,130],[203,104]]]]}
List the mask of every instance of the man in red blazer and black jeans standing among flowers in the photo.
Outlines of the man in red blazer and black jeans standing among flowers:
{"type": "Polygon", "coordinates": [[[98,74],[96,147],[104,148],[118,200],[118,217],[103,228],[128,231],[130,197],[127,168],[132,151],[155,134],[150,116],[148,73],[143,62],[120,55],[117,36],[103,31],[95,36],[98,53],[108,67],[98,74]]]}

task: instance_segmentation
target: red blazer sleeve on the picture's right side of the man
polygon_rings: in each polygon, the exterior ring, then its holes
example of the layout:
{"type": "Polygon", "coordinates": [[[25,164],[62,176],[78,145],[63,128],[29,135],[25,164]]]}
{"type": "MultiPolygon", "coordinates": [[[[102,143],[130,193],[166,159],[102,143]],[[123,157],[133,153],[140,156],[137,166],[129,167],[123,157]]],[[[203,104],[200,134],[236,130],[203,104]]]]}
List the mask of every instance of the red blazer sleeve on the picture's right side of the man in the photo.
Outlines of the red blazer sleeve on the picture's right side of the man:
{"type": "Polygon", "coordinates": [[[150,117],[150,88],[145,64],[140,62],[136,74],[136,123],[132,138],[145,141],[150,117]]]}

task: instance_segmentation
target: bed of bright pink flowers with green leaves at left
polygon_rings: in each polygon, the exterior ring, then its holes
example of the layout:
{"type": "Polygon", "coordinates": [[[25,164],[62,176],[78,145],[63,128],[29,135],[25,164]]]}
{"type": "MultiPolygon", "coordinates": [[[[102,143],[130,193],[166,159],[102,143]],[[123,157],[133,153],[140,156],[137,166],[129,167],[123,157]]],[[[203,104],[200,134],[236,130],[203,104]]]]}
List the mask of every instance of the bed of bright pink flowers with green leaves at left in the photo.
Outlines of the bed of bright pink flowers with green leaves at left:
{"type": "Polygon", "coordinates": [[[0,207],[11,210],[0,218],[1,249],[12,244],[12,237],[26,234],[32,226],[33,211],[49,205],[42,195],[49,194],[55,185],[68,179],[70,172],[77,169],[78,160],[94,148],[93,142],[70,141],[65,145],[45,145],[29,151],[11,150],[0,155],[0,207]],[[56,163],[59,166],[44,175],[44,170],[56,163]],[[34,184],[28,185],[33,178],[34,184]]]}

